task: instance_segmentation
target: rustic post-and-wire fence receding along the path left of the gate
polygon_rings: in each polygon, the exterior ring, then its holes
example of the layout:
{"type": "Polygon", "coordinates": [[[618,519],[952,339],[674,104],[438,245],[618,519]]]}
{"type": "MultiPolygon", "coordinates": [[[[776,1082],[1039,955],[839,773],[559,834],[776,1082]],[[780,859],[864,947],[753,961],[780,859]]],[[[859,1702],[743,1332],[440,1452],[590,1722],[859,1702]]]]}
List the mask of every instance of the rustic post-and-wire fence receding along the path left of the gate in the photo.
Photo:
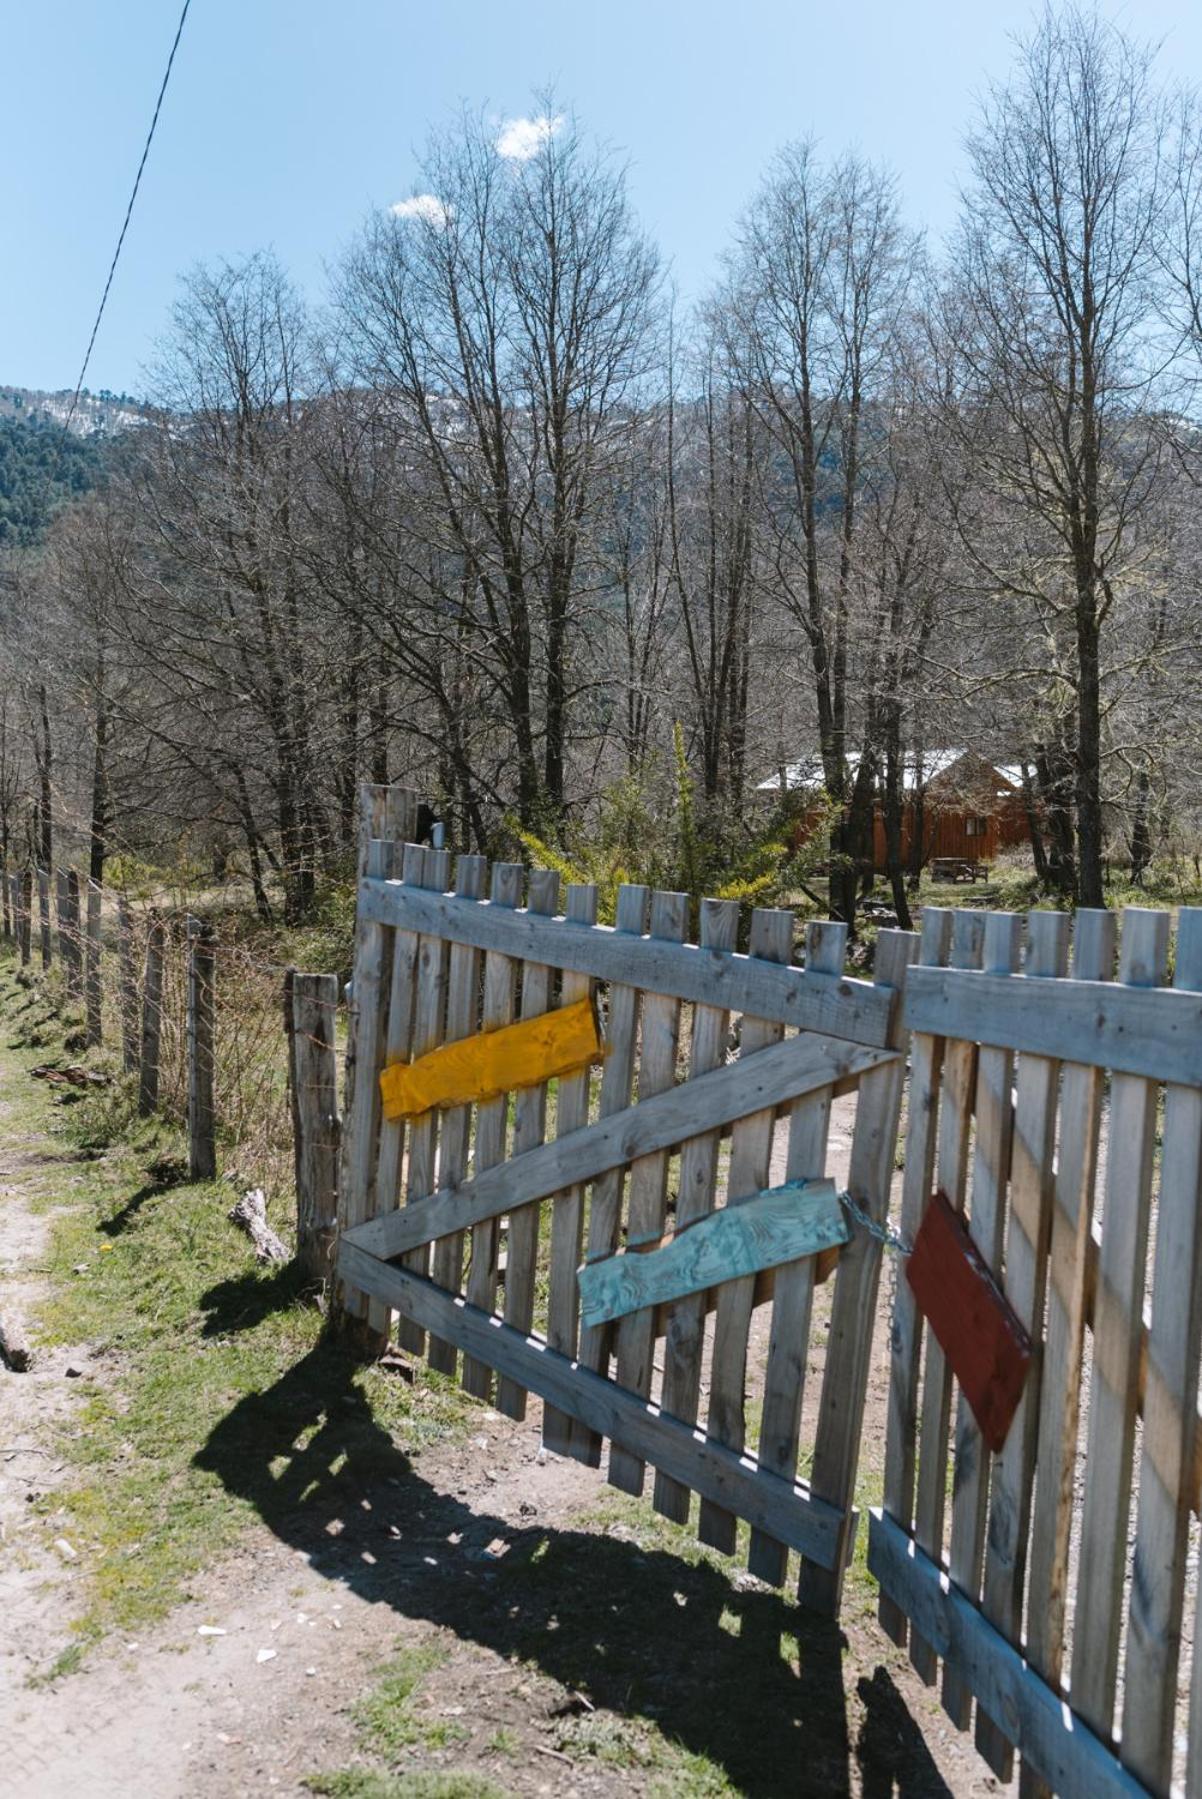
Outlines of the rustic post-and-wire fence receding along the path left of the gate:
{"type": "MultiPolygon", "coordinates": [[[[416,799],[401,811],[416,815],[416,799]]],[[[61,973],[83,1045],[119,1049],[137,1110],[185,1126],[189,1178],[221,1169],[247,1186],[293,1182],[297,1259],[324,1283],[336,1223],[338,977],[265,964],[211,921],[135,907],[65,869],[54,880],[0,874],[0,930],[25,977],[61,973]]]]}

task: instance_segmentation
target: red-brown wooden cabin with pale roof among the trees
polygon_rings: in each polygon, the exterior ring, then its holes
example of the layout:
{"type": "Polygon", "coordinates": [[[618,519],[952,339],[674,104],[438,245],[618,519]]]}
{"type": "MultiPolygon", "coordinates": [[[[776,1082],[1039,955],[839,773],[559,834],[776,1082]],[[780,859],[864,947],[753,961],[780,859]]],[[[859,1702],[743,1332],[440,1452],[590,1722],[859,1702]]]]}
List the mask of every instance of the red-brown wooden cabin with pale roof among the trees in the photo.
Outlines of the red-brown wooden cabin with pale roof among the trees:
{"type": "MultiPolygon", "coordinates": [[[[851,775],[858,756],[848,757],[851,775]]],[[[822,766],[817,757],[806,763],[788,763],[776,775],[761,781],[758,793],[804,793],[822,784],[822,766]]],[[[1022,772],[1011,765],[990,763],[975,750],[928,750],[921,763],[905,759],[902,774],[902,862],[910,864],[914,829],[921,811],[921,864],[963,860],[993,862],[1000,849],[1027,842],[1027,819],[1022,804],[1022,772]],[[921,799],[921,808],[919,808],[921,799]]],[[[797,824],[797,842],[804,844],[817,828],[821,810],[797,824]]],[[[885,817],[880,792],[873,813],[873,867],[885,871],[885,817]]]]}

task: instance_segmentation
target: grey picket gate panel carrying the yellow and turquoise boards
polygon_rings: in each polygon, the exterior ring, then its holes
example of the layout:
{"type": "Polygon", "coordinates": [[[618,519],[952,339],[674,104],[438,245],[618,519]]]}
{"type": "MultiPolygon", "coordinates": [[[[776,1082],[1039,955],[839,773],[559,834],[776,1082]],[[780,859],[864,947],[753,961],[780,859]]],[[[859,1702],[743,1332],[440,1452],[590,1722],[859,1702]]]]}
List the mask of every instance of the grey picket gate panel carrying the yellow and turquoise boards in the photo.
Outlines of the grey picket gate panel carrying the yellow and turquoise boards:
{"type": "Polygon", "coordinates": [[[855,1094],[849,1186],[869,1218],[887,1214],[900,989],[918,941],[884,932],[875,982],[849,980],[842,926],[810,926],[806,966],[792,966],[792,912],[756,910],[738,953],[732,901],[702,903],[695,944],[682,894],[623,887],[606,928],[588,885],[569,887],[558,916],[547,869],[529,873],[522,905],[513,864],[489,876],[461,856],[448,892],[446,851],[376,838],[365,860],[344,1306],[376,1347],[399,1313],[403,1347],[513,1418],[527,1391],[542,1396],[549,1448],[597,1464],[608,1439],[615,1486],[641,1493],[651,1466],[669,1518],[686,1522],[698,1493],[704,1542],[734,1553],[749,1520],[758,1576],[783,1583],[799,1551],[806,1599],[835,1610],[880,1241],[849,1227],[821,1177],[831,1101],[855,1094]],[[556,1063],[588,1000],[599,1061],[556,1063]],[[563,1029],[524,1034],[552,1011],[563,1029]],[[439,1058],[452,1042],[466,1058],[439,1058]],[[522,1083],[504,1072],[513,1054],[527,1058],[522,1083]],[[812,1301],[835,1259],[799,1481],[812,1301]],[[763,1373],[754,1407],[749,1364],[763,1373]]]}

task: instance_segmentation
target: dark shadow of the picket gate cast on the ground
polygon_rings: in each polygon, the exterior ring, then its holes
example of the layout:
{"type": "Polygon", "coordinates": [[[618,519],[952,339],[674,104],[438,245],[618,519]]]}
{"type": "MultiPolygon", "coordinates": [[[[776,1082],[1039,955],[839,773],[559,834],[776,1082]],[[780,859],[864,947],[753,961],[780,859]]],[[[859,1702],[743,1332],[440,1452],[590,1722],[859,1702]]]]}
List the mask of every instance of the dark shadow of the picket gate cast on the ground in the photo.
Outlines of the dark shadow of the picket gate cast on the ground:
{"type": "MultiPolygon", "coordinates": [[[[248,1322],[236,1284],[209,1295],[214,1326],[248,1322]]],[[[849,1794],[853,1770],[869,1799],[950,1794],[884,1666],[858,1682],[866,1720],[851,1741],[837,1626],[707,1563],[471,1509],[417,1473],[353,1374],[320,1344],[241,1400],[196,1457],[317,1572],[651,1718],[756,1799],[849,1794]],[[493,1567],[497,1536],[509,1553],[493,1567]]]]}

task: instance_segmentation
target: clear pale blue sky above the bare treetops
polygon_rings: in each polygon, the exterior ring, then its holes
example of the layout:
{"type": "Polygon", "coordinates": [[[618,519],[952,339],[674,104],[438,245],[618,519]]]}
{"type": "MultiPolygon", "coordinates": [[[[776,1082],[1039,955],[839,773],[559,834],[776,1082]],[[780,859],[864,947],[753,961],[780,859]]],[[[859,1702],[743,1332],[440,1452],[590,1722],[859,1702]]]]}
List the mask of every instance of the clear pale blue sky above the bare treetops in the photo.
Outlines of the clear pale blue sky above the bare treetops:
{"type": "MultiPolygon", "coordinates": [[[[1198,0],[1103,4],[1202,79],[1198,0]]],[[[178,0],[5,9],[0,381],[74,385],[178,0]]],[[[704,293],[772,151],[815,133],[896,167],[910,219],[955,210],[973,94],[1029,0],[193,0],[88,385],[142,392],[176,277],[270,245],[320,297],[462,101],[554,83],[630,162],[684,299],[704,293]]]]}

